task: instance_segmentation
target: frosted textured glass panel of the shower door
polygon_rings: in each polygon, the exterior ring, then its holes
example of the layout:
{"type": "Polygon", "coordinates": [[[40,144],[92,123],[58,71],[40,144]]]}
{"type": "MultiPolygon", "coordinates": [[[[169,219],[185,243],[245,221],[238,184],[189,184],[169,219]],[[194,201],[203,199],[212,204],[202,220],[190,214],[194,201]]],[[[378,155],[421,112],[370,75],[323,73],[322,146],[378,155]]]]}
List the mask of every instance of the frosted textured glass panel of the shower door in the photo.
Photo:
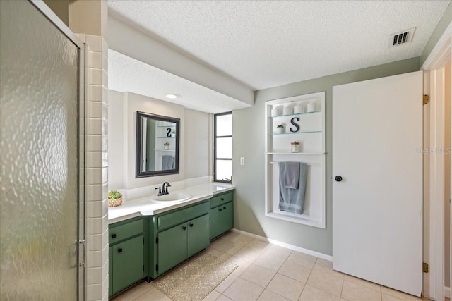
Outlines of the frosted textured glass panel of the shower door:
{"type": "Polygon", "coordinates": [[[80,60],[32,3],[0,1],[0,300],[78,300],[80,60]]]}

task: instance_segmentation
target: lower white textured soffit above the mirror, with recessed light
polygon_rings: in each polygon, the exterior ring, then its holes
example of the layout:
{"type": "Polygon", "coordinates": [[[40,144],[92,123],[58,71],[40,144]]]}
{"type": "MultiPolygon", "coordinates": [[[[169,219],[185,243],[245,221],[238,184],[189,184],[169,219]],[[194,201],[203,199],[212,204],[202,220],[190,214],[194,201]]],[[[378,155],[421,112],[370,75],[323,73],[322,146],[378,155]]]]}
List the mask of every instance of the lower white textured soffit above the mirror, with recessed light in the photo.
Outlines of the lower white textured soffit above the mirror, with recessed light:
{"type": "Polygon", "coordinates": [[[108,63],[108,85],[112,90],[133,92],[208,113],[222,113],[249,107],[237,99],[196,85],[117,51],[108,51],[108,63]],[[165,95],[169,92],[177,92],[183,97],[167,99],[165,95]]]}

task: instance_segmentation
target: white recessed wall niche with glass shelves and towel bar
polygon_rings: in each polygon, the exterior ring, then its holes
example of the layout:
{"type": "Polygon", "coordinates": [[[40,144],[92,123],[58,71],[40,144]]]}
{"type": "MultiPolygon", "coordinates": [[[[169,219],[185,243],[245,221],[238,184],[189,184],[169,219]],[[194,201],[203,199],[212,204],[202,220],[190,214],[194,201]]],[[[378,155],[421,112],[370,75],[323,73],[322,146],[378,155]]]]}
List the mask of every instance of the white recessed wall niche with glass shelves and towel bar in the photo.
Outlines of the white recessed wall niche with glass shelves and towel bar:
{"type": "Polygon", "coordinates": [[[265,117],[266,216],[326,228],[325,92],[270,100],[266,102],[265,117]],[[317,110],[270,116],[273,109],[283,111],[287,106],[307,102],[314,103],[317,110]],[[278,125],[284,126],[284,133],[275,132],[278,125]],[[302,152],[291,152],[294,141],[299,142],[299,150],[302,152]],[[308,166],[302,214],[280,209],[281,175],[278,163],[287,161],[302,162],[308,166]]]}

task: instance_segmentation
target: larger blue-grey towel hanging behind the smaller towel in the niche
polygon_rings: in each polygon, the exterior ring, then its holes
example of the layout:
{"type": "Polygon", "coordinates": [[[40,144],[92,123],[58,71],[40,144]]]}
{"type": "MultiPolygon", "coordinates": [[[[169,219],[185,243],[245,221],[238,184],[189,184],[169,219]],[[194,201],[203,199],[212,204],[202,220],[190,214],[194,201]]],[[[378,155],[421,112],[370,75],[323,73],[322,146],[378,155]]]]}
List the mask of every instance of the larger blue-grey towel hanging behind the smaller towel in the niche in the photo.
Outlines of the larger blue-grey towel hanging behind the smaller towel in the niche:
{"type": "Polygon", "coordinates": [[[298,189],[286,187],[285,163],[279,162],[279,184],[280,184],[280,203],[279,209],[295,214],[303,213],[304,192],[306,190],[307,169],[306,163],[299,162],[299,182],[298,189]]]}

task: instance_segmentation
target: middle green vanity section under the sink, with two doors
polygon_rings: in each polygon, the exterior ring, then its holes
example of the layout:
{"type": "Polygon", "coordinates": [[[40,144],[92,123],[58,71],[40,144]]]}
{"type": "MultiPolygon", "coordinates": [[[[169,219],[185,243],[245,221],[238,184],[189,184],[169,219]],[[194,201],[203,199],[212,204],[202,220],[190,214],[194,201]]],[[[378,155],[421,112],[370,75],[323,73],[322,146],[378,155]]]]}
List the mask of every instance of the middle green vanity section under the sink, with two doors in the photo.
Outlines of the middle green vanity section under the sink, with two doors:
{"type": "Polygon", "coordinates": [[[209,200],[151,216],[150,277],[157,278],[210,245],[209,200]]]}

